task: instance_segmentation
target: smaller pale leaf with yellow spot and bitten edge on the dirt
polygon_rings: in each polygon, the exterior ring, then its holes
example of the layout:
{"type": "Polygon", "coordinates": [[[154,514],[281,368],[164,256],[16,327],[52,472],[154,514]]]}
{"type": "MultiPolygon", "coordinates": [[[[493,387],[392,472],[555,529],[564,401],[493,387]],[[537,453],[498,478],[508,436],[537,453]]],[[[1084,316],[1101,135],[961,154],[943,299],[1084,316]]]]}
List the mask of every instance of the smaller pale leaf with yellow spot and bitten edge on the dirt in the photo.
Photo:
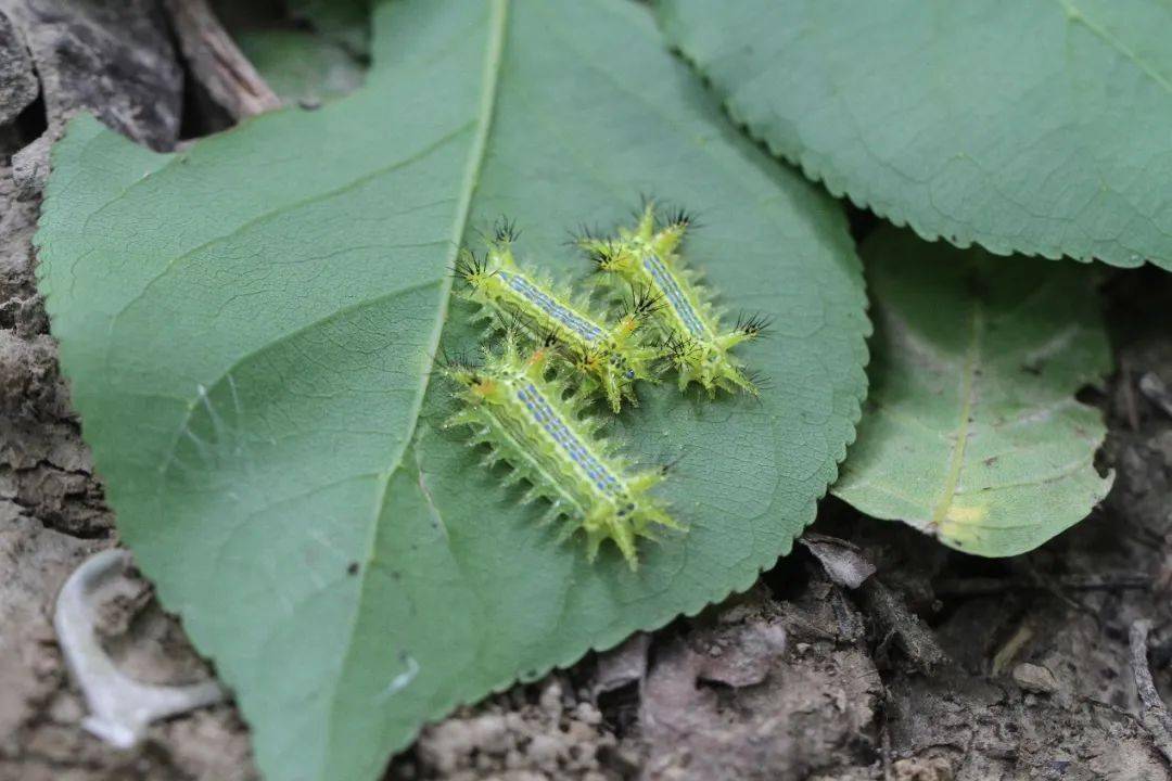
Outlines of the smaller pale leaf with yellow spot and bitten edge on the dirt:
{"type": "Polygon", "coordinates": [[[1090,269],[895,228],[863,256],[871,393],[834,494],[986,556],[1029,550],[1085,518],[1111,487],[1093,466],[1102,416],[1075,399],[1111,369],[1090,269]]]}

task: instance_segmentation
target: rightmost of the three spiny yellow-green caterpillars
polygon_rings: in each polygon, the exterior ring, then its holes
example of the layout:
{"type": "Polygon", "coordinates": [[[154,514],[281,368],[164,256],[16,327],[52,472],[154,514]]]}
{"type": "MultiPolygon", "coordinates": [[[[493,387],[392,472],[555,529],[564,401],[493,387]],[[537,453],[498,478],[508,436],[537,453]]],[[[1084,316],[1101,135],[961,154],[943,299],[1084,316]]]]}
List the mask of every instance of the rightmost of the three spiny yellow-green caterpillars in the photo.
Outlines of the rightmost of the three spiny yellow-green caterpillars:
{"type": "Polygon", "coordinates": [[[761,336],[769,322],[761,316],[742,317],[732,329],[721,329],[720,313],[700,285],[700,274],[684,267],[676,253],[690,221],[681,210],[659,227],[654,204],[648,201],[635,229],[619,228],[618,239],[587,233],[579,245],[600,270],[633,287],[646,288],[662,301],[653,317],[663,351],[679,371],[681,391],[697,382],[710,397],[718,388],[756,395],[757,383],[745,375],[744,364],[729,350],[761,336]]]}

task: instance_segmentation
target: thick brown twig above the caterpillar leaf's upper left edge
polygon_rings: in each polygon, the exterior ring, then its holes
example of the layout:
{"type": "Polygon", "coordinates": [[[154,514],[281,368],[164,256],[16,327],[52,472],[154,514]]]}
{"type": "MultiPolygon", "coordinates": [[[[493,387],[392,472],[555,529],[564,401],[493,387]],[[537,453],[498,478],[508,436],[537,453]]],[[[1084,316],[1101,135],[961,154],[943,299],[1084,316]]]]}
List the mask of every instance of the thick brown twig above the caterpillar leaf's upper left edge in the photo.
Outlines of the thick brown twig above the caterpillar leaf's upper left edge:
{"type": "Polygon", "coordinates": [[[281,107],[277,94],[220,26],[207,0],[164,0],[163,5],[192,75],[234,119],[281,107]]]}

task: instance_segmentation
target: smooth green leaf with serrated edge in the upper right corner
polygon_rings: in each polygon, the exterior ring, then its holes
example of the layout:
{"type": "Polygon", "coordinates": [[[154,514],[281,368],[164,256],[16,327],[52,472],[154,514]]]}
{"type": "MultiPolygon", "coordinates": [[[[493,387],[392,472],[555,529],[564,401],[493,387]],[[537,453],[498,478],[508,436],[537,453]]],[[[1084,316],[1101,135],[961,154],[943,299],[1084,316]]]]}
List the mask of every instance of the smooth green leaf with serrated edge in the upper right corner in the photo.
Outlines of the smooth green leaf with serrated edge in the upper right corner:
{"type": "Polygon", "coordinates": [[[661,0],[732,116],[926,238],[1172,269],[1165,0],[661,0]]]}

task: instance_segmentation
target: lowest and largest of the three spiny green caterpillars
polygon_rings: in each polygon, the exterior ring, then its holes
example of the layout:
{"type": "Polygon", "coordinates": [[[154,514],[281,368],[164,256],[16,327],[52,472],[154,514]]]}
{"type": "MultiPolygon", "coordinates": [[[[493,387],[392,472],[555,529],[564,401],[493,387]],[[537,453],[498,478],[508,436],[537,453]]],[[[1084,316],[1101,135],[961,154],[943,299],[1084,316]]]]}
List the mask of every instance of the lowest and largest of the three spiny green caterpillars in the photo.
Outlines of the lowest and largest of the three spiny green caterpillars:
{"type": "Polygon", "coordinates": [[[532,486],[523,501],[551,502],[546,522],[570,519],[563,539],[581,528],[593,561],[604,540],[613,540],[631,569],[638,567],[635,541],[654,539],[652,527],[679,528],[648,491],[663,470],[631,471],[615,448],[597,434],[601,425],[581,417],[582,392],[566,396],[565,383],[551,370],[551,350],[529,356],[517,349],[513,331],[503,351],[484,351],[482,366],[449,363],[444,371],[461,385],[465,406],[444,427],[471,426],[470,445],[488,444],[486,466],[504,460],[512,467],[506,485],[525,479],[532,486]]]}

